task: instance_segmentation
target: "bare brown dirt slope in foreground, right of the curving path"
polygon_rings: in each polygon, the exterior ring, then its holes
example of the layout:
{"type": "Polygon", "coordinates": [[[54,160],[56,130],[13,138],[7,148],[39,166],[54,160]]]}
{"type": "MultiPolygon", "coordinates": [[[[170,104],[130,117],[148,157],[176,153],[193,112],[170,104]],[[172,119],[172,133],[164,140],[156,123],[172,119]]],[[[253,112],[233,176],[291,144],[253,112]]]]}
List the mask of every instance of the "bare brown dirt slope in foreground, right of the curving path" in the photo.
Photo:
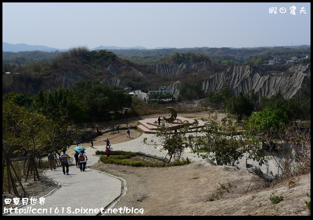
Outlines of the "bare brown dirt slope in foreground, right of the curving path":
{"type": "Polygon", "coordinates": [[[207,161],[158,168],[98,162],[90,168],[124,178],[126,194],[114,207],[144,209],[144,215],[308,215],[310,174],[297,177],[292,188],[288,184],[264,188],[263,180],[246,169],[207,161]],[[229,192],[221,190],[221,185],[229,192]],[[223,195],[209,201],[218,192],[223,195]],[[282,195],[283,201],[274,205],[269,200],[273,192],[282,195]]]}

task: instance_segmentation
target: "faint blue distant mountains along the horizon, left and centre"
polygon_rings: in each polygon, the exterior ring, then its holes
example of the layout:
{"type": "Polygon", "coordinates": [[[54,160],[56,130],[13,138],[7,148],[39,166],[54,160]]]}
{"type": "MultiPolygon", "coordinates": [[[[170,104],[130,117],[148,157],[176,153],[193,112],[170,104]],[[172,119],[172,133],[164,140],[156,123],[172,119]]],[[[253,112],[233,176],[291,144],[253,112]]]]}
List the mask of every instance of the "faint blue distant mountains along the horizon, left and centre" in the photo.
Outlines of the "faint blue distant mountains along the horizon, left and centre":
{"type": "MultiPolygon", "coordinates": [[[[157,48],[150,48],[150,49],[167,49],[171,47],[157,47],[157,48]]],[[[122,49],[139,49],[139,50],[149,50],[148,48],[141,47],[141,46],[136,46],[136,47],[116,47],[116,46],[99,46],[92,48],[90,50],[100,50],[100,49],[105,49],[105,50],[122,50],[122,49]]],[[[44,52],[54,52],[56,50],[63,52],[67,51],[68,49],[58,49],[58,48],[52,48],[52,47],[47,47],[43,45],[28,45],[25,43],[17,43],[17,44],[11,44],[11,43],[6,43],[2,42],[2,51],[9,51],[9,52],[19,52],[19,51],[33,51],[33,50],[40,50],[44,52]]]]}

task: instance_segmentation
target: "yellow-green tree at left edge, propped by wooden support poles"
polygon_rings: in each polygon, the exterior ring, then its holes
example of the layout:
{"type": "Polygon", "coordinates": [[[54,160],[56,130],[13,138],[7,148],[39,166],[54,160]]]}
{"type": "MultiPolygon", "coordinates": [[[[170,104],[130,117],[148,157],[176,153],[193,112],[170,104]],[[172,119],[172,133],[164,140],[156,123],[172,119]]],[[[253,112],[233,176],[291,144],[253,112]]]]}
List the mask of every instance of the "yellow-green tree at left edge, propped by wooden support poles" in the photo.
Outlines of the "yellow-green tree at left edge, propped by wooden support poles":
{"type": "Polygon", "coordinates": [[[37,156],[41,166],[39,155],[47,152],[49,120],[38,112],[29,112],[24,107],[17,106],[12,101],[15,99],[16,96],[12,99],[9,96],[4,98],[3,121],[6,130],[3,132],[3,146],[8,148],[3,148],[3,152],[8,155],[14,150],[15,155],[28,155],[28,161],[24,161],[24,167],[26,166],[24,174],[27,171],[27,180],[29,171],[34,171],[34,180],[36,180],[35,174],[39,179],[39,173],[35,159],[37,156]]]}

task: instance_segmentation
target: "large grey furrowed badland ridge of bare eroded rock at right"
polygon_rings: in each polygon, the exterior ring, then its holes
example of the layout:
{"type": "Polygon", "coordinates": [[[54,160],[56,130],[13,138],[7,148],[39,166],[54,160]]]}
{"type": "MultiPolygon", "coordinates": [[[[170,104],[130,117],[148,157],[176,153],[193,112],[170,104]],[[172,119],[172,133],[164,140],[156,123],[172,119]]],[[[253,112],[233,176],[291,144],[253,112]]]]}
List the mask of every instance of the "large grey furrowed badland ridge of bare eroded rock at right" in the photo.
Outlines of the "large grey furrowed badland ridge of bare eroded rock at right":
{"type": "MultiPolygon", "coordinates": [[[[233,65],[221,74],[216,74],[208,79],[201,81],[204,91],[218,91],[222,88],[223,82],[227,82],[234,95],[238,96],[239,92],[249,94],[254,89],[255,94],[270,97],[280,92],[285,99],[293,97],[300,87],[310,89],[311,85],[311,68],[310,65],[292,66],[278,76],[268,73],[265,69],[247,65],[233,65]]],[[[177,96],[177,81],[175,84],[168,86],[172,94],[177,96]]]]}

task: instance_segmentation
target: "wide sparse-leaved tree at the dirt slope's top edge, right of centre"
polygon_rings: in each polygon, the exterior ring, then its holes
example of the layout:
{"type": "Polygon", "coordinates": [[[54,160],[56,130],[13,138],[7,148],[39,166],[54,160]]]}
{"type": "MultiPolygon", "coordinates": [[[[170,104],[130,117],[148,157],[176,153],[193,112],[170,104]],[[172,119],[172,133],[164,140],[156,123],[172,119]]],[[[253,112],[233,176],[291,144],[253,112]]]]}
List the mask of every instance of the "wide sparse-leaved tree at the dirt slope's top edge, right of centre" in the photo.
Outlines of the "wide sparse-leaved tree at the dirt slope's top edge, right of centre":
{"type": "Polygon", "coordinates": [[[204,126],[200,133],[203,135],[191,135],[194,140],[192,151],[198,152],[202,158],[211,158],[217,165],[235,166],[239,164],[244,153],[249,153],[248,158],[257,160],[260,165],[266,162],[266,157],[257,141],[249,136],[237,135],[237,125],[225,115],[221,122],[218,116],[209,115],[209,120],[204,120],[204,126]],[[206,152],[205,154],[199,153],[206,152]]]}

